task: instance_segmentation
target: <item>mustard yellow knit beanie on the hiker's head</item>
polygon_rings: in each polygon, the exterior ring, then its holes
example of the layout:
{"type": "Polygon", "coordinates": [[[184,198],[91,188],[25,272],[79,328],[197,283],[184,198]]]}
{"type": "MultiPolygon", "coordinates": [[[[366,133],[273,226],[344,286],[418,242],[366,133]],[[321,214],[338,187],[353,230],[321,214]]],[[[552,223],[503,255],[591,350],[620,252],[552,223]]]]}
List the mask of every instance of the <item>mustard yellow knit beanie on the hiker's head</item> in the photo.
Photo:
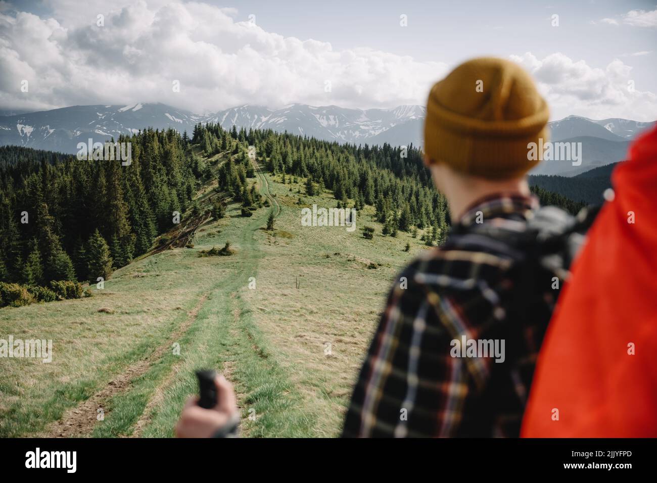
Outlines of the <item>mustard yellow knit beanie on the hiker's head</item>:
{"type": "Polygon", "coordinates": [[[436,83],[424,121],[429,163],[487,179],[520,177],[538,164],[528,143],[548,141],[549,110],[530,75],[501,58],[468,60],[436,83]]]}

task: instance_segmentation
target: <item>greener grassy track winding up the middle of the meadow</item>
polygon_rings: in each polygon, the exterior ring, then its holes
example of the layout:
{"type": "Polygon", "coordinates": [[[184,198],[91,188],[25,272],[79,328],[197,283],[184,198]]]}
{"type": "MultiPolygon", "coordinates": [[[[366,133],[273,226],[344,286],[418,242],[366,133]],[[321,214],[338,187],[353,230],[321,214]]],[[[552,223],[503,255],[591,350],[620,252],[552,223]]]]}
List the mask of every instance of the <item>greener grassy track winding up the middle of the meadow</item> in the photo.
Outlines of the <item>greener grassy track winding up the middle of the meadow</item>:
{"type": "MultiPolygon", "coordinates": [[[[260,170],[257,173],[261,195],[275,207],[275,215],[280,214],[266,175],[260,170]]],[[[172,436],[179,410],[196,392],[193,370],[198,367],[217,369],[233,382],[245,436],[307,434],[312,419],[303,413],[300,395],[289,384],[286,373],[269,357],[267,341],[242,296],[250,280],[258,277],[262,254],[257,237],[268,213],[258,210],[252,218],[231,220],[244,223],[235,243],[237,254],[221,260],[232,268],[210,293],[194,327],[185,334],[185,355],[175,361],[163,360],[159,374],[153,368],[152,377],[143,373],[135,378],[135,384],[116,394],[109,401],[112,411],[95,427],[94,436],[172,436]]]]}

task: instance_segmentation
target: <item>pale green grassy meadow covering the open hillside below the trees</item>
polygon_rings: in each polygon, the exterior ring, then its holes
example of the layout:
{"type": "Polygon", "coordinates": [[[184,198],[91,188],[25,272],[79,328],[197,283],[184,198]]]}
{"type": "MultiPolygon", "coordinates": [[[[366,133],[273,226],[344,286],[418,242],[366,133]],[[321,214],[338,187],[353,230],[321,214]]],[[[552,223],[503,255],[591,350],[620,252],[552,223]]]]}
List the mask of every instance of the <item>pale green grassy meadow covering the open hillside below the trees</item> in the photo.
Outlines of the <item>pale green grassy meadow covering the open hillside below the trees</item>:
{"type": "Polygon", "coordinates": [[[304,206],[336,200],[306,196],[305,179],[280,181],[269,176],[282,208],[271,231],[264,228],[272,208],[242,218],[229,204],[227,218],[200,227],[194,248],[141,257],[91,298],[0,309],[0,337],[53,339],[52,363],[0,359],[0,436],[47,434],[67,410],[140,364],[127,389],[102,402],[104,420],[85,436],[173,436],[199,367],[233,381],[245,436],[336,436],[386,292],[426,247],[408,233],[383,237],[371,206],[351,233],[304,227],[304,206]],[[365,225],[375,229],[372,240],[361,235],[365,225]],[[198,256],[227,241],[232,256],[198,256]],[[169,343],[181,326],[177,354],[169,343]]]}

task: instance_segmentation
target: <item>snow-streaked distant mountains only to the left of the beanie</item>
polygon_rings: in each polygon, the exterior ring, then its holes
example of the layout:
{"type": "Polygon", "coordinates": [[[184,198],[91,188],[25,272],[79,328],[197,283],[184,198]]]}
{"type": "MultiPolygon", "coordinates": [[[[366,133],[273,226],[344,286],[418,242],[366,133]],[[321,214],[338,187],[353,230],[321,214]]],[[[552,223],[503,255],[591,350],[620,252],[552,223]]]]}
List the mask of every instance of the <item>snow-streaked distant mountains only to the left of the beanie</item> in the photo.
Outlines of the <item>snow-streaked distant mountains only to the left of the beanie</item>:
{"type": "Polygon", "coordinates": [[[239,106],[208,115],[194,114],[160,103],[128,106],[72,106],[60,109],[0,116],[0,145],[76,152],[78,142],[104,141],[144,127],[173,127],[192,133],[194,124],[214,122],[222,127],[275,129],[340,143],[390,142],[384,133],[394,128],[396,144],[419,144],[424,107],[394,109],[346,109],[292,104],[273,110],[262,106],[239,106]],[[409,129],[406,128],[409,127],[409,129]],[[402,129],[403,128],[403,129],[402,129]]]}

